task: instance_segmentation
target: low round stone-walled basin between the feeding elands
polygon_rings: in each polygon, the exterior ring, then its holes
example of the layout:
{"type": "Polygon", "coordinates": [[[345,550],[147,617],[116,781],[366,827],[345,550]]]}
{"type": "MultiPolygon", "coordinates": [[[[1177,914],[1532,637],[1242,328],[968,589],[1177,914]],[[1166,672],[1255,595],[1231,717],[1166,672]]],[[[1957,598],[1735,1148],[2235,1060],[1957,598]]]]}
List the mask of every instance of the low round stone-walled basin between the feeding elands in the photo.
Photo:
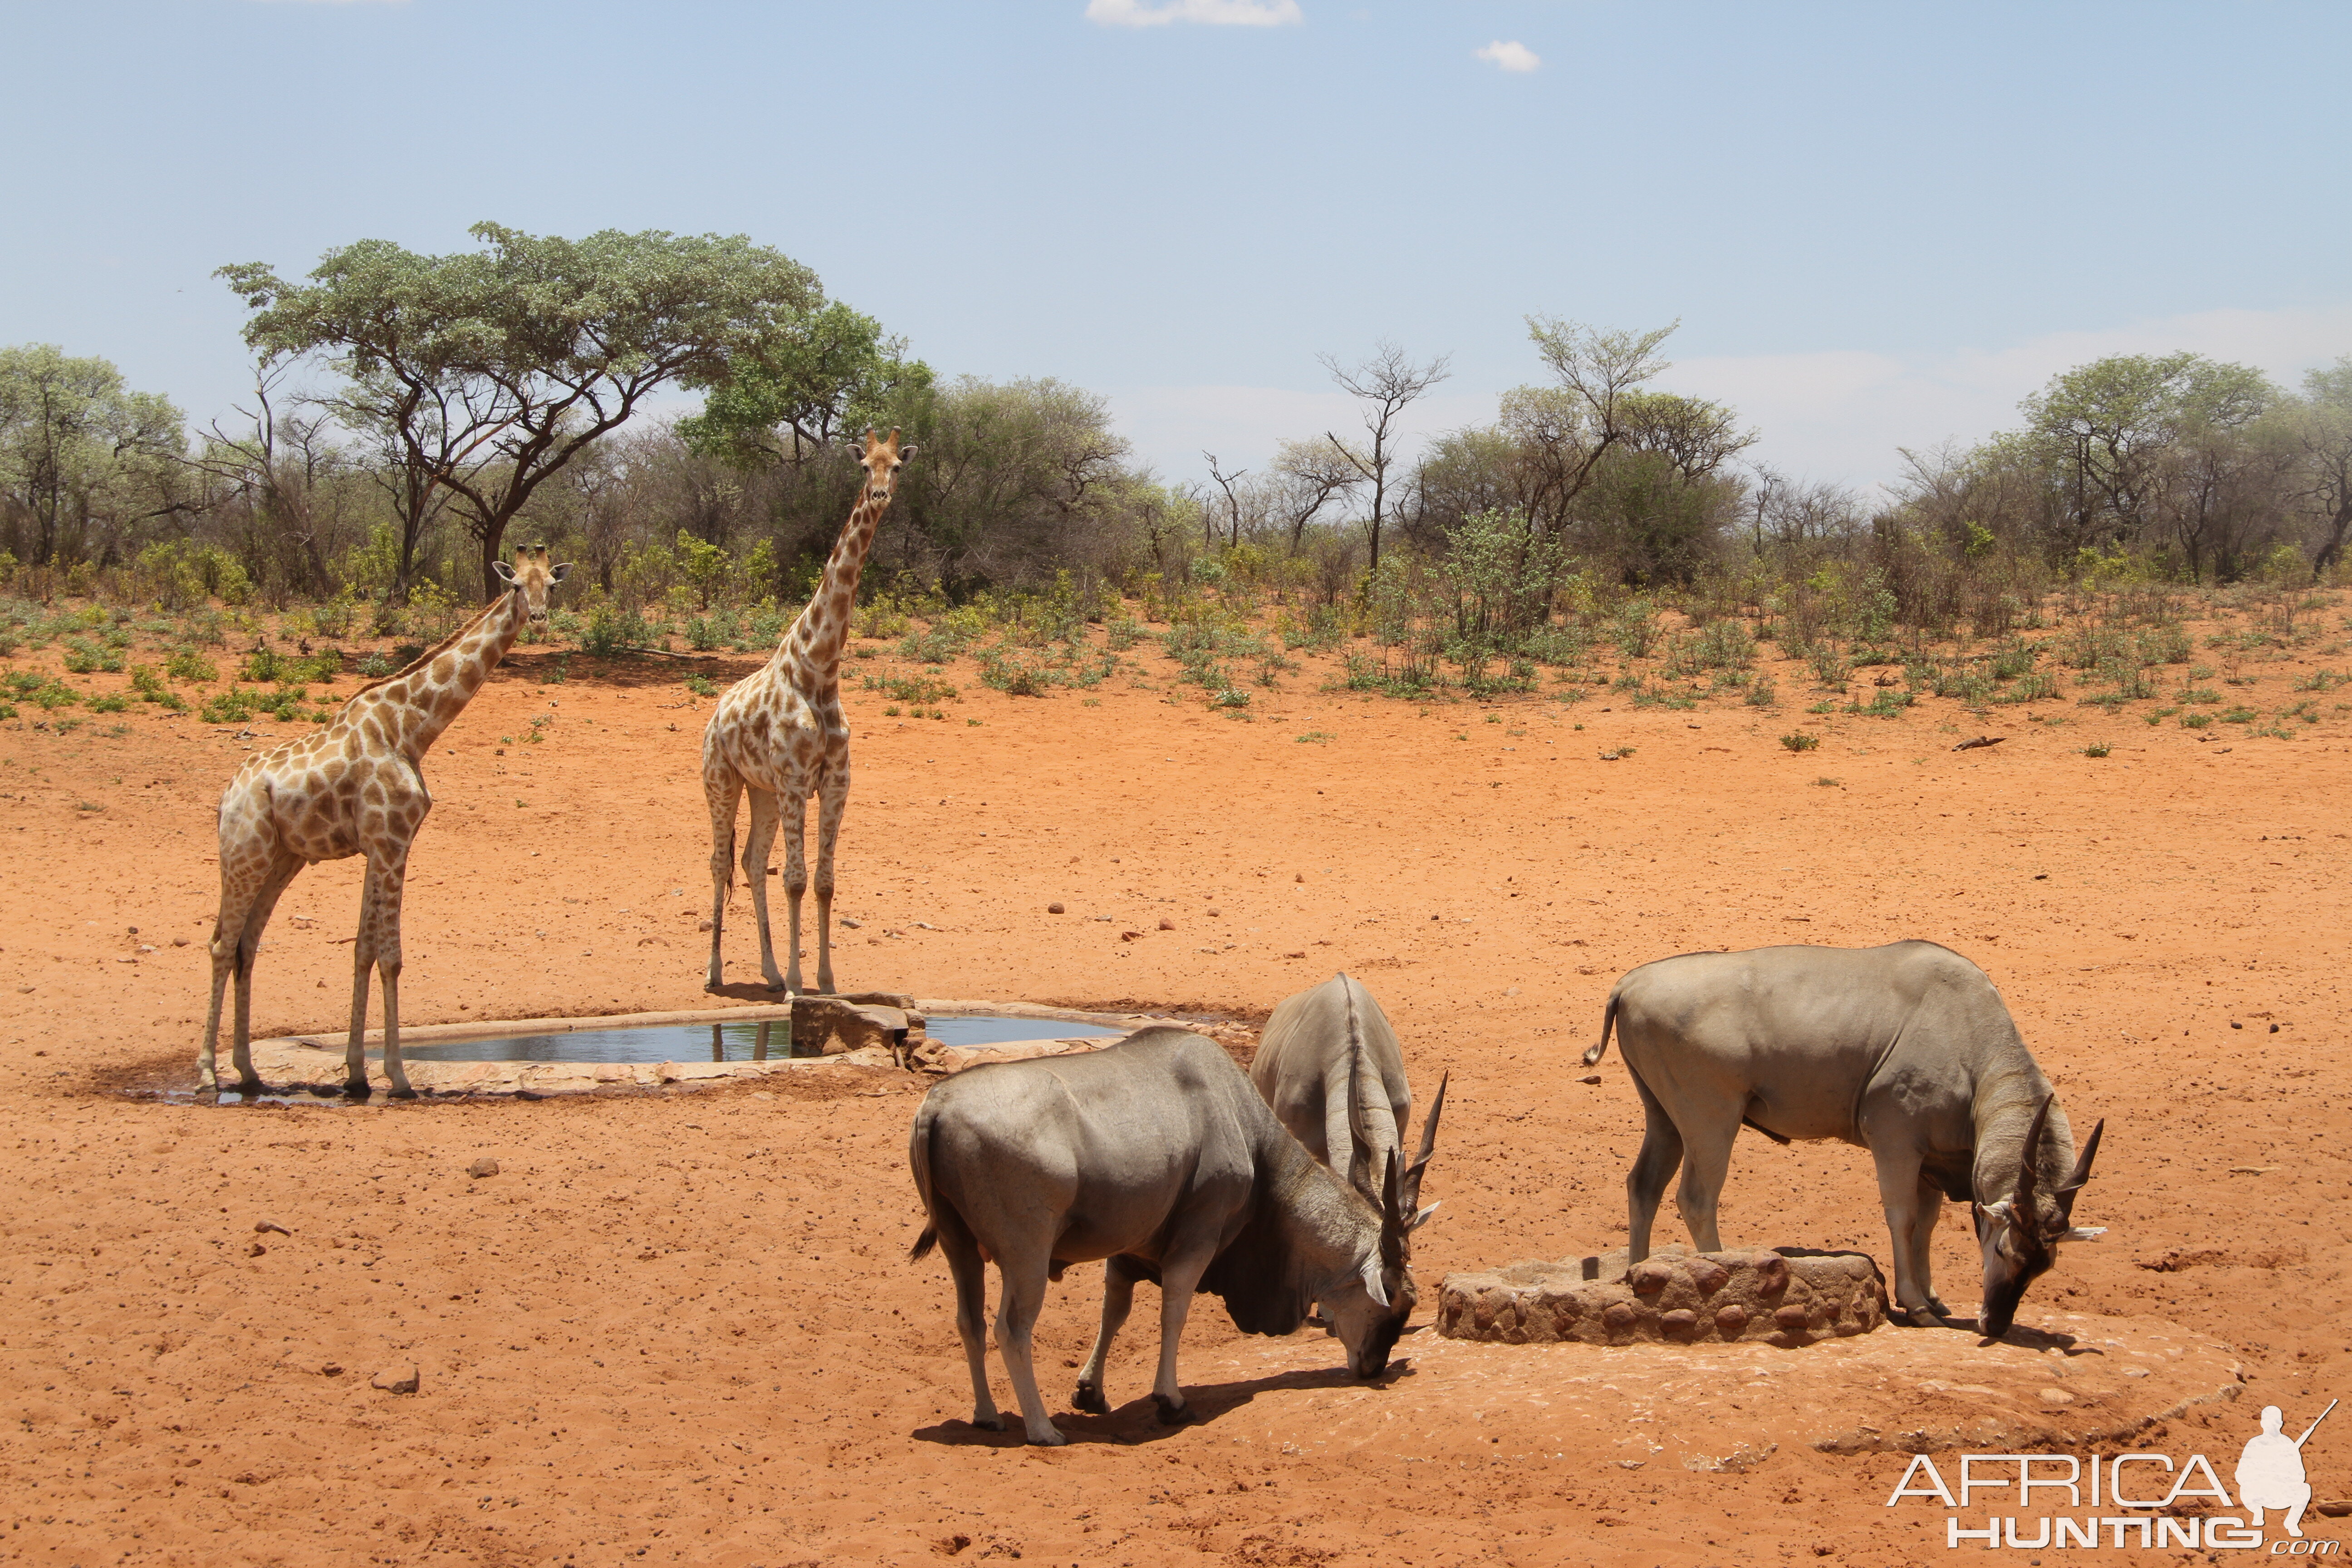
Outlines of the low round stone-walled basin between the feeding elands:
{"type": "Polygon", "coordinates": [[[1693,1253],[1663,1246],[1446,1274],[1437,1333],[1501,1345],[1724,1345],[1795,1349],[1886,1321],[1886,1281],[1867,1253],[1776,1246],[1693,1253]]]}

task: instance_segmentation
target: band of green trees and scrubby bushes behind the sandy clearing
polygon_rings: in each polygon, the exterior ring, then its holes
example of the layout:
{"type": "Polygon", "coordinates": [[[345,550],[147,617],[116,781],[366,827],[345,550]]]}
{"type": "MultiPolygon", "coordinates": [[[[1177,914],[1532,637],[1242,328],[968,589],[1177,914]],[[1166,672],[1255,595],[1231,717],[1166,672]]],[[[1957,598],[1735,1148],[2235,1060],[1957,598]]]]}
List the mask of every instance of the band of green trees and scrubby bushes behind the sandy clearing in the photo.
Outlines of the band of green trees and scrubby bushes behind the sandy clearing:
{"type": "Polygon", "coordinates": [[[202,428],[103,357],[0,350],[0,654],[129,682],[75,696],[19,670],[0,717],[308,717],[313,686],[454,625],[522,541],[579,564],[562,649],[764,651],[849,510],[842,437],[866,425],[922,454],[866,571],[863,679],[927,717],[960,682],[1122,672],[1247,717],[1312,668],[1404,696],[1884,717],[1933,693],[2201,726],[2241,710],[2211,682],[2244,658],[2343,646],[2352,357],[2296,390],[2187,353],[2084,364],[1865,498],[1750,461],[1736,409],[1656,390],[1672,327],[1531,317],[1531,381],[1486,425],[1404,442],[1446,360],[1381,343],[1327,360],[1357,428],[1254,470],[1204,454],[1207,482],[1171,484],[1103,397],[941,376],[743,237],[475,237],[358,242],[301,280],[221,268],[256,376],[202,428]],[[647,411],[680,390],[696,414],[647,411]],[[2213,607],[2232,630],[2199,644],[2213,607]]]}

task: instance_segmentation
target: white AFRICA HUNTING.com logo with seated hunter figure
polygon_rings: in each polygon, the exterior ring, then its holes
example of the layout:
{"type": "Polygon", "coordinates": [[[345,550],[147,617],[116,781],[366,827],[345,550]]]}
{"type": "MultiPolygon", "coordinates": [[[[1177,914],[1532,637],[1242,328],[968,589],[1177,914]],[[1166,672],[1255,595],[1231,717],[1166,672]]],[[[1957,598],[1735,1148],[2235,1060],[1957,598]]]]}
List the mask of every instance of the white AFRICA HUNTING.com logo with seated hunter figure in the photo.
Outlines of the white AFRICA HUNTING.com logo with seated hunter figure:
{"type": "Polygon", "coordinates": [[[2331,1399],[2328,1408],[2303,1429],[2303,1436],[2286,1436],[2284,1410],[2263,1406],[2263,1429],[2246,1439],[2237,1467],[2230,1472],[2230,1481],[2237,1483],[2234,1500],[2201,1453],[2192,1453],[2178,1465],[2166,1453],[2119,1453],[2112,1458],[2096,1453],[1964,1453],[1957,1460],[1957,1495],[1936,1462],[1919,1453],[1896,1481],[1886,1507],[1898,1507],[1905,1497],[1940,1502],[1950,1509],[1943,1544],[1985,1547],[1987,1552],[2004,1547],[2023,1552],[2053,1547],[2253,1552],[2267,1544],[2272,1556],[2333,1556],[2343,1542],[2310,1540],[2303,1533],[2303,1512],[2312,1505],[2303,1446],[2312,1441],[2312,1432],[2333,1408],[2331,1399]],[[1997,1495],[1978,1497],[1976,1493],[1997,1495]],[[1999,1512],[2004,1502],[2011,1507],[2006,1514],[1999,1512]],[[2232,1512],[2166,1512],[2183,1502],[2232,1512]],[[1985,1512],[1971,1514],[1971,1507],[1985,1512]],[[2277,1540],[2265,1537],[2265,1521],[2272,1516],[2284,1530],[2277,1540]]]}

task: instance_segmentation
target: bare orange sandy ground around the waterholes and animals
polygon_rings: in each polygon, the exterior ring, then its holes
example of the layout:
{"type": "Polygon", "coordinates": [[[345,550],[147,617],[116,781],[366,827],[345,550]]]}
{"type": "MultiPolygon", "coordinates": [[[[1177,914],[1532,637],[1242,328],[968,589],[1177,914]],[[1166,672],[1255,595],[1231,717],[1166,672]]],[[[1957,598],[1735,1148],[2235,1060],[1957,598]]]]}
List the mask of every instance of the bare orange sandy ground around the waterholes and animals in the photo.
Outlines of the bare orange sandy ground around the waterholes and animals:
{"type": "MultiPolygon", "coordinates": [[[[2077,1126],[2107,1119],[2077,1218],[2110,1234],[2067,1248],[2023,1333],[2079,1342],[2161,1319],[2227,1347],[2199,1354],[2241,1363],[2244,1396],[2133,1439],[2152,1450],[2234,1455],[2253,1406],[2300,1425],[2352,1394],[2352,722],[2331,701],[2288,743],[2070,701],[1990,722],[1950,701],[1802,717],[1792,663],[1776,668],[1780,712],[1414,705],[1319,691],[1327,670],[1308,668],[1240,722],[1171,686],[1157,654],[1143,663],[1148,684],[1122,675],[1096,701],[971,686],[946,722],[851,693],[840,910],[863,924],[842,933],[844,987],[1263,1020],[1334,969],[1362,976],[1423,1095],[1454,1072],[1428,1180],[1444,1211],[1416,1248],[1425,1319],[1449,1269],[1623,1241],[1635,1091],[1616,1053],[1597,1086],[1573,1060],[1621,971],[1693,947],[1940,940],[1994,976],[2077,1126]],[[1799,724],[1818,750],[1778,743],[1799,724]],[[2006,743],[1952,750],[1980,731],[2006,743]],[[2089,741],[2112,755],[2082,755],[2089,741]],[[1047,914],[1054,900],[1068,912],[1047,914]]],[[[2244,693],[2284,705],[2331,663],[2340,644],[2253,665],[2244,693]]],[[[553,668],[517,656],[430,757],[407,1020],[767,999],[701,987],[710,703],[670,661],[574,658],[564,684],[553,668]],[[534,717],[546,741],[501,755],[534,717]]],[[[750,661],[699,668],[731,679],[750,661]]],[[[0,724],[0,1559],[1094,1568],[1943,1549],[1940,1509],[1882,1507],[1900,1455],[1818,1453],[1788,1425],[1776,1387],[1842,1396],[1830,1361],[1804,1361],[1820,1347],[1743,1347],[1710,1385],[1677,1382],[1658,1349],[1423,1333],[1397,1375],[1362,1387],[1331,1340],[1247,1340],[1202,1298],[1183,1371],[1207,1420],[1162,1429],[1145,1291],[1110,1418],[1061,1415],[1061,1450],[974,1432],[946,1269],[906,1260],[920,1077],[294,1107],[132,1093],[193,1081],[212,806],[275,726],[249,738],[134,710],[127,733],[59,736],[38,717],[0,724]],[[485,1154],[499,1173],[468,1178],[485,1154]],[[409,1363],[416,1394],[372,1387],[409,1363]],[[1691,1469],[1740,1450],[1745,1469],[1691,1469]]],[[[294,884],[256,1032],[339,1027],[358,889],[358,863],[294,884]]],[[[729,978],[757,978],[741,919],[729,978]]],[[[1740,1140],[1724,1232],[1886,1251],[1867,1157],[1832,1145],[1740,1140]]],[[[1955,1305],[1973,1300],[1964,1237],[1955,1211],[1936,1253],[1955,1305]]],[[[1056,1401],[1098,1279],[1073,1269],[1040,1328],[1056,1401]]],[[[1997,1382],[1976,1368],[2058,1342],[1889,1328],[1856,1345],[1889,1335],[1943,1373],[1851,1382],[1863,1418],[1969,1415],[1997,1382]]],[[[2044,1436],[2093,1432],[2093,1406],[2058,1410],[2044,1436]]],[[[2343,1497],[2352,1429],[2331,1425],[2307,1453],[2321,1497],[2343,1497]]]]}

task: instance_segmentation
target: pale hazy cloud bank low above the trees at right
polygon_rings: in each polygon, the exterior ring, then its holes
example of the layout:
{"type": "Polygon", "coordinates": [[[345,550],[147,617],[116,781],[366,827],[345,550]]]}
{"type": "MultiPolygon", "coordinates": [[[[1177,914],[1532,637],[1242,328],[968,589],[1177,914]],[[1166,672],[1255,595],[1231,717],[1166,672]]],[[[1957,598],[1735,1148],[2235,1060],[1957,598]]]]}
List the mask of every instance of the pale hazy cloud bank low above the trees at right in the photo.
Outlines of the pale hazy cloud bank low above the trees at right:
{"type": "Polygon", "coordinates": [[[2004,348],[1936,355],[1823,350],[1677,357],[1663,388],[1715,397],[1762,430],[1750,449],[1783,473],[1882,484],[1903,470],[1898,447],[1978,442],[2018,425],[2018,402],[2058,371],[2107,355],[2192,350],[2253,364],[2296,388],[2303,371],[2352,353],[2352,306],[2204,310],[2107,329],[2051,331],[2004,348]]]}

